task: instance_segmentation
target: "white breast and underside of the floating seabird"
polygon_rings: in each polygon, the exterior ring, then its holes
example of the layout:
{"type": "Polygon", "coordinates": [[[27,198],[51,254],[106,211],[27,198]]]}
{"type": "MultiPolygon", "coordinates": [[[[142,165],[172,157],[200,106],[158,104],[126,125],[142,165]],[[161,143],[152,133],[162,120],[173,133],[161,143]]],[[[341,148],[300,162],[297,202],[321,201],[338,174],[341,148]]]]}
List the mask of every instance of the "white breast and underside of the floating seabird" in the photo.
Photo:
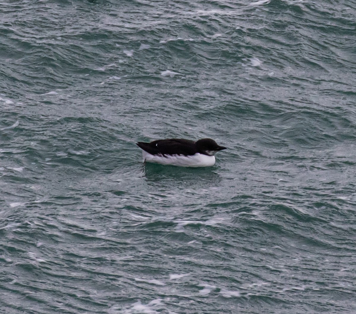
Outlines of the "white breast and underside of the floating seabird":
{"type": "Polygon", "coordinates": [[[180,167],[209,167],[215,164],[215,156],[207,156],[196,153],[192,156],[184,155],[151,155],[146,151],[142,151],[143,161],[171,164],[180,167]]]}

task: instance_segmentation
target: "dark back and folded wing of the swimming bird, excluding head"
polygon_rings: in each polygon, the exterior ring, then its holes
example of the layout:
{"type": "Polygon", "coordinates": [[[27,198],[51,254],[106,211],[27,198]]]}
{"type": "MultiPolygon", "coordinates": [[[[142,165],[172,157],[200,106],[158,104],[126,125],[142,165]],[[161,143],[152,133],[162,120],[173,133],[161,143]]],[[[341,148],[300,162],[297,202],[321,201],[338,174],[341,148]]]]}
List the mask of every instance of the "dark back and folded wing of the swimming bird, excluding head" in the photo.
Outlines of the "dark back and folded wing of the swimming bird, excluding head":
{"type": "Polygon", "coordinates": [[[151,155],[194,155],[198,152],[195,142],[184,138],[168,138],[166,140],[156,140],[151,143],[138,142],[137,146],[151,155]]]}

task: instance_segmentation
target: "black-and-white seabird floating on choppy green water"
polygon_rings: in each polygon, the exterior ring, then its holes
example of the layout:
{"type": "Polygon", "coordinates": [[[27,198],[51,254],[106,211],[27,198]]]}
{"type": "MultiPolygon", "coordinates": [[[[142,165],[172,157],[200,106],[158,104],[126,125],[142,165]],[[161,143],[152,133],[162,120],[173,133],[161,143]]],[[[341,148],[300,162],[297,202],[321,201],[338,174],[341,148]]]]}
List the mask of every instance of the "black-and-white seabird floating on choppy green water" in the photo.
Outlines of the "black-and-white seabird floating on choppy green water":
{"type": "Polygon", "coordinates": [[[211,138],[202,138],[196,142],[184,138],[167,138],[150,143],[137,142],[136,145],[142,149],[144,162],[180,167],[213,166],[214,154],[226,149],[211,138]]]}

